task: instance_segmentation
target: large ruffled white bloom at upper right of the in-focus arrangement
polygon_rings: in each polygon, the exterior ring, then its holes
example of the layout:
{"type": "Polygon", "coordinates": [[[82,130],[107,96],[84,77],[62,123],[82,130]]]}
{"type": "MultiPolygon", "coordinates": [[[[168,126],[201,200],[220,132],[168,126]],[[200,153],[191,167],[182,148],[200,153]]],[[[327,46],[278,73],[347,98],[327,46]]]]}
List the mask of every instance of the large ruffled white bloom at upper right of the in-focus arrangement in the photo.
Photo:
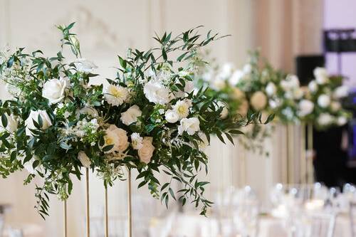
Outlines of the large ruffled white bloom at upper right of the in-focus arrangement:
{"type": "Polygon", "coordinates": [[[164,105],[169,102],[169,89],[166,88],[159,80],[150,80],[143,88],[145,96],[150,102],[164,105]]]}

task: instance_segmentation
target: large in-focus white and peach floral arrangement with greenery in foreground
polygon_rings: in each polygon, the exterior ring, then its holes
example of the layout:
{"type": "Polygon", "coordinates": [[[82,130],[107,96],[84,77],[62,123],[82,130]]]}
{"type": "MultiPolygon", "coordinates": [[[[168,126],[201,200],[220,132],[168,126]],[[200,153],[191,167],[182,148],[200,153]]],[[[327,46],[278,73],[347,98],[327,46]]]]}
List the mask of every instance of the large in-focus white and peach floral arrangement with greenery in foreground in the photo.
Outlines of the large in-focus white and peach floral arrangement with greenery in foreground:
{"type": "Polygon", "coordinates": [[[127,167],[137,169],[139,187],[147,184],[166,205],[169,197],[191,201],[204,215],[211,206],[204,197],[208,182],[197,173],[206,169],[210,135],[233,142],[231,135],[241,134],[239,128],[256,116],[221,116],[224,107],[216,98],[203,88],[193,90],[197,64],[191,58],[218,34],[203,37],[192,28],[175,37],[156,36],[157,48],[118,56],[117,78],[90,85],[99,76],[93,73],[97,67],[82,58],[73,25],[58,26],[63,38],[54,57],[23,48],[0,55],[0,79],[14,96],[0,102],[1,177],[23,168],[31,172],[25,184],[42,177],[36,209],[44,218],[48,194],[68,199],[82,167],[97,172],[105,186],[124,179],[127,167]],[[63,56],[67,46],[73,60],[63,56]],[[170,181],[160,184],[158,172],[170,181]],[[174,181],[182,183],[176,193],[174,181]]]}

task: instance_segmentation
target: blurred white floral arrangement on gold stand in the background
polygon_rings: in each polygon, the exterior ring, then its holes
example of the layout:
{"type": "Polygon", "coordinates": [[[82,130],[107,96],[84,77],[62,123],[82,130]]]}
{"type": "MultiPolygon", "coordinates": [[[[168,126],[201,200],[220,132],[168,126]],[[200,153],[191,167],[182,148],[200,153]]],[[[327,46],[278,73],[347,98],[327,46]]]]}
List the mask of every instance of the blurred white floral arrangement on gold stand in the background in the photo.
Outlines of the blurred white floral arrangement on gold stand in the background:
{"type": "Polygon", "coordinates": [[[247,149],[263,151],[263,139],[271,135],[273,126],[262,126],[261,117],[282,123],[313,123],[318,129],[345,125],[350,114],[342,109],[341,99],[348,89],[342,78],[330,78],[325,68],[315,68],[315,79],[308,88],[301,87],[296,75],[274,69],[259,52],[250,53],[248,63],[235,69],[230,63],[221,68],[206,64],[200,70],[197,85],[205,85],[209,93],[226,104],[226,115],[243,117],[260,112],[260,124],[244,128],[246,136],[241,143],[247,149]]]}

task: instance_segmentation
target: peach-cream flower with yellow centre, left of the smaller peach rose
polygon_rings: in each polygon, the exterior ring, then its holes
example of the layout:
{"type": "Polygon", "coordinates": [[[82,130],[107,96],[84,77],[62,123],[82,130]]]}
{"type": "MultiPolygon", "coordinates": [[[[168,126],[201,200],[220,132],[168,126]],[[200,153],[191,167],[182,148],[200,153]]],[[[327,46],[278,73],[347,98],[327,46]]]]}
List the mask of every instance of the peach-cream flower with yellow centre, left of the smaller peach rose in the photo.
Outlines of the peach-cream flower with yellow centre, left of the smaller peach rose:
{"type": "Polygon", "coordinates": [[[124,152],[125,149],[129,146],[127,141],[127,132],[121,128],[116,127],[115,125],[110,125],[107,130],[105,130],[104,147],[108,145],[114,145],[112,149],[105,153],[111,152],[124,152]]]}

